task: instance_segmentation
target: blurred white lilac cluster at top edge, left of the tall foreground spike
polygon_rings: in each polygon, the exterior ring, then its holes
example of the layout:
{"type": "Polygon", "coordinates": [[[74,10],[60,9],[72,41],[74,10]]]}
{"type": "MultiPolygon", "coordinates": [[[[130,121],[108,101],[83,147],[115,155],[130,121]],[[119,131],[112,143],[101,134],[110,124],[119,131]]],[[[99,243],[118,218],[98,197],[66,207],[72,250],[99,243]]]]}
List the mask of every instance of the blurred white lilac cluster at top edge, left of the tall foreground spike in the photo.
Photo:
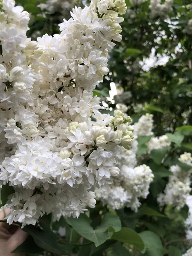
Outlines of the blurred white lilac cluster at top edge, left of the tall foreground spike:
{"type": "MultiPolygon", "coordinates": [[[[80,0],[48,0],[46,3],[40,3],[38,6],[43,12],[54,14],[60,13],[63,17],[69,16],[70,10],[80,4],[80,0]]],[[[60,16],[60,17],[62,17],[60,16]]]]}

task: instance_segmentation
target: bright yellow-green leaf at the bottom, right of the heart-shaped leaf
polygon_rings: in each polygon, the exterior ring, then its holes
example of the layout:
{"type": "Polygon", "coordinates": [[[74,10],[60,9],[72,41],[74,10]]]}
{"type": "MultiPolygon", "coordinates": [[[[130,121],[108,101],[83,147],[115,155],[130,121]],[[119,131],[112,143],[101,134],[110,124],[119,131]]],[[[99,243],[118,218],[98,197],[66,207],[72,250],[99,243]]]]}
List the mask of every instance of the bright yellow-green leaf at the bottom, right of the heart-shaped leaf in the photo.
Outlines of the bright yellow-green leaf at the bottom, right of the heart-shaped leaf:
{"type": "Polygon", "coordinates": [[[131,244],[135,249],[140,252],[144,250],[144,243],[140,235],[137,234],[134,230],[129,229],[128,227],[122,227],[119,232],[113,233],[111,239],[123,242],[125,244],[131,244]]]}

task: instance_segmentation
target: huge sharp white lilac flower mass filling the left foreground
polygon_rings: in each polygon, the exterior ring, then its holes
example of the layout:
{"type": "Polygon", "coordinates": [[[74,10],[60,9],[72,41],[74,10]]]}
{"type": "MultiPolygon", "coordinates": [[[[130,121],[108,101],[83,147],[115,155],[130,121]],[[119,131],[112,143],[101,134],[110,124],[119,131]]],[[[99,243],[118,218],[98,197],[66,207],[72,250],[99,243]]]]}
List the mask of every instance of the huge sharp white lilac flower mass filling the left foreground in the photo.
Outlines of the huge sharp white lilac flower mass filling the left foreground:
{"type": "Polygon", "coordinates": [[[29,14],[0,0],[0,184],[15,189],[9,224],[78,217],[95,207],[93,185],[105,189],[119,173],[110,149],[131,148],[131,118],[100,113],[93,89],[108,73],[125,12],[124,0],[93,0],[73,9],[61,34],[35,42],[26,37],[29,14]]]}

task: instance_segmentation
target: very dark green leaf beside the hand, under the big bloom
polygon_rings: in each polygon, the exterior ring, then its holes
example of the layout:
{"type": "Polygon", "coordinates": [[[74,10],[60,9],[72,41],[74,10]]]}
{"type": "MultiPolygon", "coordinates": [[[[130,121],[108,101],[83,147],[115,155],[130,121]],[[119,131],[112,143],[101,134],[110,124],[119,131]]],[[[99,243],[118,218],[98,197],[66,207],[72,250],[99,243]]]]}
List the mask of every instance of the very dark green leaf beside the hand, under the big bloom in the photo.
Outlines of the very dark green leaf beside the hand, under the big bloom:
{"type": "Polygon", "coordinates": [[[32,225],[26,225],[23,228],[23,231],[29,233],[33,237],[35,243],[44,250],[51,253],[69,255],[69,253],[57,243],[58,238],[55,233],[51,231],[47,218],[43,217],[39,219],[39,223],[43,229],[38,229],[32,225]]]}

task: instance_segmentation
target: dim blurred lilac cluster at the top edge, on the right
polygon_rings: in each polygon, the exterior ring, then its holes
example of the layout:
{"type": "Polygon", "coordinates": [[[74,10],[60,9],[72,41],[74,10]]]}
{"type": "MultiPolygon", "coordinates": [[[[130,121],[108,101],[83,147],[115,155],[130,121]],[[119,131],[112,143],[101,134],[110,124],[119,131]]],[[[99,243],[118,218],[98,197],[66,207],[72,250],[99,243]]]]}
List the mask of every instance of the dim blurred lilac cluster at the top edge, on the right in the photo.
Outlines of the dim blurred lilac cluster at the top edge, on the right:
{"type": "Polygon", "coordinates": [[[151,18],[167,18],[168,14],[173,11],[173,2],[173,0],[165,0],[164,3],[162,3],[162,0],[151,0],[149,5],[151,18]]]}

